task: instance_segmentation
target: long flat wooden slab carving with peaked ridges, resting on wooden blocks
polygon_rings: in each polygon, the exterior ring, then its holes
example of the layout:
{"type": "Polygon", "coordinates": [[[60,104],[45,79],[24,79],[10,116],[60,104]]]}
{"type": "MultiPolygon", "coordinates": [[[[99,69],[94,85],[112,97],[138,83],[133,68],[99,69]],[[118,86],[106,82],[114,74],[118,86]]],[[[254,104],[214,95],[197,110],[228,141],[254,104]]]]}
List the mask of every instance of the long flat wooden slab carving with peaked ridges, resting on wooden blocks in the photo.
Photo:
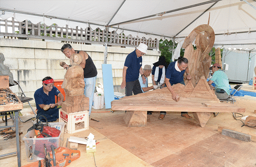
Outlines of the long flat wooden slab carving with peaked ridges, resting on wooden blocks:
{"type": "Polygon", "coordinates": [[[126,125],[135,127],[146,126],[145,111],[193,112],[201,127],[205,126],[213,112],[245,112],[245,109],[234,104],[220,103],[204,76],[200,78],[195,87],[192,81],[188,81],[186,86],[178,83],[172,88],[179,94],[179,102],[172,99],[172,94],[165,87],[114,100],[111,102],[112,110],[125,110],[126,125]],[[141,114],[139,115],[138,112],[141,114]]]}

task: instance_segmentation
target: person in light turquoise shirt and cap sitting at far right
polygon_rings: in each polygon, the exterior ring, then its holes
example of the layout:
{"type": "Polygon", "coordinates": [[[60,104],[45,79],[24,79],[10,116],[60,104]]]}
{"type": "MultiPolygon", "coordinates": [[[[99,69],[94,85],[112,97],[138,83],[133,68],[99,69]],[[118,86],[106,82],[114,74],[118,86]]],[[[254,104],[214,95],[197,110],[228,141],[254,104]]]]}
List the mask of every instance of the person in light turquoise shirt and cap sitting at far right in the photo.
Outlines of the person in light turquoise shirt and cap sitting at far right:
{"type": "Polygon", "coordinates": [[[213,73],[212,78],[208,81],[210,88],[215,89],[214,92],[218,99],[228,99],[230,90],[228,76],[225,74],[225,71],[221,69],[219,63],[213,64],[209,69],[213,73]],[[211,85],[213,82],[216,85],[215,88],[211,85]]]}

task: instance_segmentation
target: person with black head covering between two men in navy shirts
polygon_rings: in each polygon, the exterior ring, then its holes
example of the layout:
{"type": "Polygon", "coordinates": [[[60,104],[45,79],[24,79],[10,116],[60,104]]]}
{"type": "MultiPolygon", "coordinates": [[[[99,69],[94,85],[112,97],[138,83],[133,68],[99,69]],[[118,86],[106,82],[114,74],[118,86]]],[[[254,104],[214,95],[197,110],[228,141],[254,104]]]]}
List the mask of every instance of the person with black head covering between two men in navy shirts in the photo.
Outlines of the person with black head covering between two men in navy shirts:
{"type": "Polygon", "coordinates": [[[153,63],[152,68],[152,82],[153,85],[162,85],[164,84],[165,74],[167,71],[167,64],[165,62],[165,57],[159,57],[156,63],[153,63]]]}

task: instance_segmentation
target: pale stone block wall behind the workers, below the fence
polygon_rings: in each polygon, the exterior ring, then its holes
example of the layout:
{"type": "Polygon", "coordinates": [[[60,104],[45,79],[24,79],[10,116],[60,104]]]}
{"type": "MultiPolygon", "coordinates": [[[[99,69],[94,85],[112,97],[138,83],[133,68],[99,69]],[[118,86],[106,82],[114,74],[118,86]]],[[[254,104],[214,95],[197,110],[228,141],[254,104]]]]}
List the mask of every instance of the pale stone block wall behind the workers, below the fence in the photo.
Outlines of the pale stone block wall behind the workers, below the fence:
{"type": "MultiPolygon", "coordinates": [[[[20,83],[21,88],[28,97],[33,97],[36,89],[42,86],[42,79],[51,76],[54,79],[63,79],[66,70],[59,66],[59,62],[64,61],[69,64],[69,59],[61,52],[64,43],[38,41],[38,40],[17,40],[0,38],[0,53],[5,56],[4,64],[10,68],[15,81],[20,83]]],[[[97,68],[97,82],[103,84],[102,63],[104,63],[105,46],[71,44],[74,50],[86,51],[91,56],[97,68]]],[[[108,46],[107,63],[112,64],[112,75],[114,91],[124,93],[120,89],[123,76],[123,65],[126,56],[134,51],[135,48],[119,48],[108,46]]],[[[158,61],[160,51],[148,51],[142,57],[142,67],[158,61]]],[[[151,76],[148,78],[149,85],[152,84],[151,76]]],[[[10,89],[20,94],[18,86],[10,89]]],[[[35,101],[31,101],[34,104],[35,101]]],[[[24,104],[24,107],[26,105],[24,104]]]]}

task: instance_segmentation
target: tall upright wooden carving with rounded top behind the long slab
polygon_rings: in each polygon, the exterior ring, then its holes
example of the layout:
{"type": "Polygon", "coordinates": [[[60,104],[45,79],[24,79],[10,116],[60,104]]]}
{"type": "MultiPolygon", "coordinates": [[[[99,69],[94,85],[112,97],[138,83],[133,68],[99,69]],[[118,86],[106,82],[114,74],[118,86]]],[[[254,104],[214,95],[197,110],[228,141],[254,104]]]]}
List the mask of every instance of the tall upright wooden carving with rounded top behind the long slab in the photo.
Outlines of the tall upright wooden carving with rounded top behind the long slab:
{"type": "MultiPolygon", "coordinates": [[[[191,81],[195,86],[200,80],[201,76],[205,78],[209,75],[209,67],[211,65],[212,58],[209,56],[209,52],[214,44],[215,34],[210,25],[203,24],[197,26],[186,37],[182,48],[185,49],[184,57],[188,59],[189,73],[192,77],[191,81]],[[202,32],[205,32],[203,35],[202,32]],[[192,42],[195,40],[197,49],[194,50],[192,42]]],[[[184,76],[184,79],[186,76],[184,76]]],[[[187,84],[188,80],[185,80],[187,84]]]]}

